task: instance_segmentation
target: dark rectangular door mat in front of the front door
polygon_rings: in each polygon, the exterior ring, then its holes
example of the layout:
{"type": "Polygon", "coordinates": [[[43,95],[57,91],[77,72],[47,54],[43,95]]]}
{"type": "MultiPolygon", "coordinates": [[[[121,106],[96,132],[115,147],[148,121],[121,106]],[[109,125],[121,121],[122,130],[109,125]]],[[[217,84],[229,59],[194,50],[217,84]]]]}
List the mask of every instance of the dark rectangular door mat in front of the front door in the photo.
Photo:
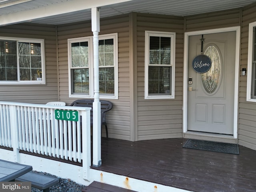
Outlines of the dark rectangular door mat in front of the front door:
{"type": "Polygon", "coordinates": [[[199,149],[213,152],[239,154],[238,144],[188,139],[184,148],[199,149]]]}

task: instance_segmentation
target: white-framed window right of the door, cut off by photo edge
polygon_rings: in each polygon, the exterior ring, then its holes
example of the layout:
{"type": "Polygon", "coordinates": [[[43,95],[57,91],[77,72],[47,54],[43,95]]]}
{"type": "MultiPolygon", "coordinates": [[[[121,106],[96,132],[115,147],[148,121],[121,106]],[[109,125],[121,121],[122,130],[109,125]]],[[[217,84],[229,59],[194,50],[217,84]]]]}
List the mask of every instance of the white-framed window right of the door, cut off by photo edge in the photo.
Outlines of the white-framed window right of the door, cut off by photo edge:
{"type": "Polygon", "coordinates": [[[247,101],[256,102],[256,22],[249,24],[247,101]]]}

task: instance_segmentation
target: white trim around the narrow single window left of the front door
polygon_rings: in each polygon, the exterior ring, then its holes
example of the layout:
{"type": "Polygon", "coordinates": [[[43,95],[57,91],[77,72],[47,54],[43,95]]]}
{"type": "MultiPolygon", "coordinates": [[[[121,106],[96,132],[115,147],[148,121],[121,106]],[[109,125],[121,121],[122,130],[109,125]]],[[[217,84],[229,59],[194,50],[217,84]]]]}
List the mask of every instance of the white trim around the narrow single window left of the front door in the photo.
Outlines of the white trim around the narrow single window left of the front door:
{"type": "Polygon", "coordinates": [[[159,32],[159,31],[145,31],[145,99],[174,99],[175,97],[175,32],[159,32]],[[171,38],[171,64],[172,67],[172,94],[171,95],[148,95],[148,64],[149,64],[149,40],[150,36],[170,37],[171,38]]]}

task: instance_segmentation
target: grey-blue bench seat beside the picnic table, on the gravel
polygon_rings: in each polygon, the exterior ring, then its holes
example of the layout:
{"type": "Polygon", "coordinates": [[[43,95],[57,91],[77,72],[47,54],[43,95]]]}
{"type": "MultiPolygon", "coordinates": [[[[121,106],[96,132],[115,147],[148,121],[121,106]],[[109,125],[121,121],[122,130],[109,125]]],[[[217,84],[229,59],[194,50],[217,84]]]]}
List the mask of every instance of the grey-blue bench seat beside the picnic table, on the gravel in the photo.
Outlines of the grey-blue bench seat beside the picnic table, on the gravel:
{"type": "Polygon", "coordinates": [[[57,178],[49,177],[46,175],[37,174],[34,172],[28,172],[18,178],[15,181],[31,182],[31,186],[43,190],[43,192],[50,192],[50,187],[58,184],[57,178]]]}

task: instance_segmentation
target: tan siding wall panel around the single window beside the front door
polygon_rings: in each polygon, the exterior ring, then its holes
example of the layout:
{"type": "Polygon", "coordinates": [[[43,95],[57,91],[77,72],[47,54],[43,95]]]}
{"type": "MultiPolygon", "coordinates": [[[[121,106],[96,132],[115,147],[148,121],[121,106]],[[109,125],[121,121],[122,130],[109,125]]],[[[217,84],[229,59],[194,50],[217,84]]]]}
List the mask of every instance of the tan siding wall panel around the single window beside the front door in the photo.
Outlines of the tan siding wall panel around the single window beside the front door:
{"type": "Polygon", "coordinates": [[[137,15],[138,140],[182,137],[183,18],[137,15]],[[145,30],[176,32],[175,99],[144,99],[145,30]]]}

